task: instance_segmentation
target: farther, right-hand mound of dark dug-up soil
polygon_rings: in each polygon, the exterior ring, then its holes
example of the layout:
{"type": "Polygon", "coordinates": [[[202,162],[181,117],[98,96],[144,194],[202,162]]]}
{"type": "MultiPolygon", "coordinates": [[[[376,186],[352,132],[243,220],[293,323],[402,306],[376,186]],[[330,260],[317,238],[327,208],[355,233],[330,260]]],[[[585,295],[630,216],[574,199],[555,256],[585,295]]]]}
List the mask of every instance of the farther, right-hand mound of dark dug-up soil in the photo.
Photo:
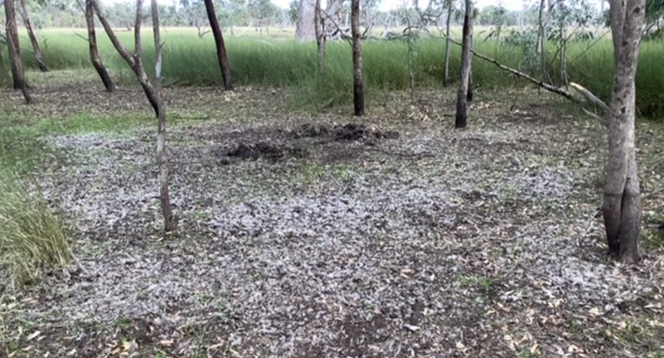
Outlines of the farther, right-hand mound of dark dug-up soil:
{"type": "Polygon", "coordinates": [[[399,132],[381,131],[361,123],[348,123],[329,127],[319,123],[306,123],[291,132],[295,138],[329,137],[334,141],[365,141],[373,143],[377,139],[396,139],[399,132]]]}

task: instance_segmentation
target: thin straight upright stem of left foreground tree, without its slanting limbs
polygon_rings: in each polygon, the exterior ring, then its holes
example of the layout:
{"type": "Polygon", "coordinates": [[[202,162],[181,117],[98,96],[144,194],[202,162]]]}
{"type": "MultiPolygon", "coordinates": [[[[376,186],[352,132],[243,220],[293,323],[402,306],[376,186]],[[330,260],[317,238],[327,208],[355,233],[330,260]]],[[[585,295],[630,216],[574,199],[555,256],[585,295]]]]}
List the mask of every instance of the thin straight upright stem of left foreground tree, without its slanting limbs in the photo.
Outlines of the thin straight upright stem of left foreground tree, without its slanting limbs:
{"type": "MultiPolygon", "coordinates": [[[[140,0],[139,0],[140,1],[140,0]]],[[[161,211],[164,216],[165,231],[177,229],[177,221],[173,216],[171,199],[168,188],[168,160],[166,156],[166,108],[161,89],[161,65],[162,49],[161,34],[159,28],[159,7],[156,0],[151,0],[152,10],[152,32],[154,34],[154,48],[156,51],[156,64],[154,67],[155,80],[154,91],[157,94],[157,162],[159,165],[159,199],[161,211]]],[[[218,26],[218,25],[217,25],[218,26]]]]}

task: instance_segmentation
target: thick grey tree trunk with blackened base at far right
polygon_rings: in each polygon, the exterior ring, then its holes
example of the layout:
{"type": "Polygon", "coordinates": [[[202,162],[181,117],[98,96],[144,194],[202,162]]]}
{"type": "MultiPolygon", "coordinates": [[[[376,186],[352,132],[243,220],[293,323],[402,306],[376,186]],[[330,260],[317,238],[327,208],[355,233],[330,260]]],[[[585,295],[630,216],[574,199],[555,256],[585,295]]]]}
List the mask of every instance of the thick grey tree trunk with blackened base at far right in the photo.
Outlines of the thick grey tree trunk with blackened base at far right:
{"type": "Polygon", "coordinates": [[[616,74],[609,105],[609,164],[602,213],[609,253],[640,260],[640,185],[636,167],[636,66],[645,23],[645,0],[612,0],[616,74]]]}

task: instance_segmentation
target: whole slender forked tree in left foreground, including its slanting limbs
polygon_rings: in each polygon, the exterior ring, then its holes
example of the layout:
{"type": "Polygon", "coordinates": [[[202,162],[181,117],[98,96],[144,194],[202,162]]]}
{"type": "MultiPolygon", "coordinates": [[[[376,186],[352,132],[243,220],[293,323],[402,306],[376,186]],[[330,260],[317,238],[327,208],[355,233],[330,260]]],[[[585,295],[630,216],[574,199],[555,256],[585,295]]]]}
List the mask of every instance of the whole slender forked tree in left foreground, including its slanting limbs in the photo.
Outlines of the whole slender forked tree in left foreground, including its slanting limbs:
{"type": "Polygon", "coordinates": [[[129,55],[127,50],[120,44],[118,37],[113,32],[111,24],[104,17],[103,12],[99,8],[99,4],[96,0],[91,0],[97,13],[99,21],[102,23],[104,30],[106,31],[113,47],[116,48],[116,51],[120,54],[120,57],[127,62],[129,67],[131,67],[134,74],[140,82],[140,87],[142,87],[147,96],[147,100],[150,102],[152,109],[156,114],[158,120],[157,127],[157,161],[159,165],[159,186],[160,186],[160,204],[161,211],[164,217],[164,230],[166,232],[174,231],[177,228],[177,220],[173,215],[170,196],[169,196],[169,186],[168,186],[168,163],[166,157],[166,108],[162,98],[161,93],[161,66],[162,66],[162,49],[163,44],[160,40],[159,33],[159,12],[156,5],[156,0],[151,0],[152,8],[152,26],[154,29],[154,48],[156,51],[156,65],[155,73],[156,80],[151,82],[145,73],[142,62],[142,43],[140,38],[140,26],[142,24],[142,15],[143,15],[143,1],[136,0],[136,23],[134,24],[134,51],[133,56],[129,55]]]}

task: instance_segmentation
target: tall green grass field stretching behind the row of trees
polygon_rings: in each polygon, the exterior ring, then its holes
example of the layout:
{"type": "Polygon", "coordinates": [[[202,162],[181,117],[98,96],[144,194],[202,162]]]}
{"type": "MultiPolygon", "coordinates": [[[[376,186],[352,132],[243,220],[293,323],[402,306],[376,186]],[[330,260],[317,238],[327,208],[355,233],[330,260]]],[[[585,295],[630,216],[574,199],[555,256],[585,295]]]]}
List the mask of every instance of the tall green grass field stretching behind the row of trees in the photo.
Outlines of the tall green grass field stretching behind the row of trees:
{"type": "MultiPolygon", "coordinates": [[[[457,32],[459,32],[457,30],[457,32]]],[[[228,53],[234,78],[240,85],[265,85],[270,87],[297,88],[300,105],[330,107],[351,98],[351,49],[345,42],[329,44],[326,57],[326,73],[317,75],[315,44],[298,44],[292,40],[292,31],[273,29],[259,33],[257,30],[239,28],[236,36],[227,35],[228,53]],[[261,36],[262,35],[262,36],[261,36]]],[[[52,69],[79,69],[89,67],[88,46],[83,29],[42,30],[41,39],[46,62],[52,69]]],[[[118,33],[127,46],[132,46],[133,34],[127,30],[118,33]]],[[[145,30],[145,61],[150,69],[154,63],[151,33],[145,30]]],[[[118,78],[132,79],[127,66],[112,48],[109,39],[99,29],[98,37],[102,58],[118,78]]],[[[478,36],[482,38],[481,36],[478,36]]],[[[221,82],[219,66],[214,52],[212,35],[199,38],[195,29],[166,28],[164,75],[171,85],[218,85],[221,82]]],[[[521,67],[524,54],[520,48],[498,45],[495,42],[477,40],[477,51],[496,57],[513,67],[521,67]]],[[[27,46],[27,38],[22,42],[27,46]]],[[[408,46],[403,41],[366,41],[364,44],[365,81],[369,95],[376,90],[402,90],[409,88],[408,46]]],[[[613,55],[609,39],[604,39],[586,51],[589,42],[571,44],[568,50],[571,80],[580,82],[602,98],[608,98],[611,90],[613,55]]],[[[415,82],[418,87],[439,86],[443,72],[442,39],[419,39],[414,46],[415,82]]],[[[548,54],[555,57],[553,44],[548,54]]],[[[638,68],[638,109],[642,116],[664,116],[664,69],[661,58],[664,42],[643,43],[638,68]]],[[[36,69],[37,63],[29,51],[24,51],[26,64],[36,69]]],[[[451,71],[457,76],[460,51],[452,48],[451,71]]],[[[557,63],[553,66],[552,78],[557,63]]],[[[474,61],[473,75],[480,87],[507,87],[522,85],[493,64],[474,61]]],[[[132,79],[133,80],[133,79],[132,79]]]]}

